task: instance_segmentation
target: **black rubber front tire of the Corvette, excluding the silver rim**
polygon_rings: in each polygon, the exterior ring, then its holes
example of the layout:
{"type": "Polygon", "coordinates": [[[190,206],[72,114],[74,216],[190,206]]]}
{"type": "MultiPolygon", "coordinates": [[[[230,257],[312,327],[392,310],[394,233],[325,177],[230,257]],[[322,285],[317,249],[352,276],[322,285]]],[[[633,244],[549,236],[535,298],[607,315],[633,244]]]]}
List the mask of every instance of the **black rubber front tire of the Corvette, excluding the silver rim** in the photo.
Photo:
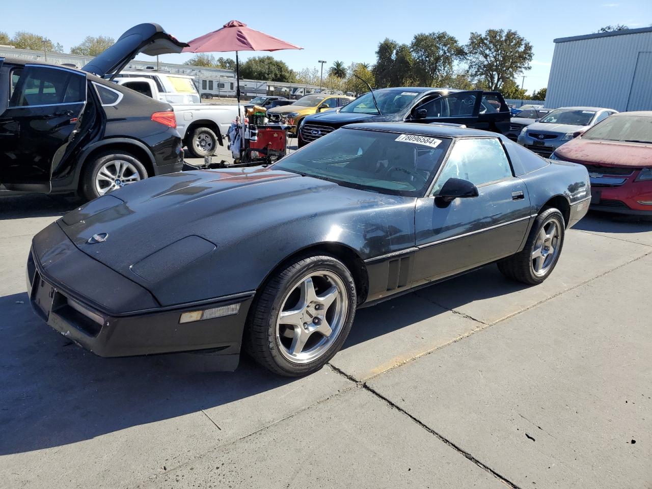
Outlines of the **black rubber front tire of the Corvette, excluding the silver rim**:
{"type": "Polygon", "coordinates": [[[276,297],[274,297],[274,301],[271,304],[269,314],[267,314],[267,344],[269,345],[269,351],[273,356],[274,363],[276,363],[281,370],[290,375],[304,375],[321,368],[323,364],[333,358],[335,353],[342,348],[342,345],[346,341],[349,331],[351,331],[353,319],[355,318],[356,301],[357,295],[353,276],[351,276],[351,273],[348,271],[346,266],[344,266],[344,264],[339,260],[330,256],[317,256],[313,257],[307,265],[294,269],[293,273],[282,281],[281,286],[276,293],[276,297]],[[308,363],[292,363],[280,352],[282,346],[278,344],[278,339],[276,338],[276,319],[278,318],[278,314],[286,295],[291,290],[297,279],[318,270],[327,270],[337,274],[340,277],[340,280],[342,280],[344,285],[347,287],[347,290],[345,291],[348,297],[346,321],[344,321],[344,324],[342,325],[338,338],[333,342],[333,344],[331,344],[329,349],[321,355],[321,357],[308,363]]]}

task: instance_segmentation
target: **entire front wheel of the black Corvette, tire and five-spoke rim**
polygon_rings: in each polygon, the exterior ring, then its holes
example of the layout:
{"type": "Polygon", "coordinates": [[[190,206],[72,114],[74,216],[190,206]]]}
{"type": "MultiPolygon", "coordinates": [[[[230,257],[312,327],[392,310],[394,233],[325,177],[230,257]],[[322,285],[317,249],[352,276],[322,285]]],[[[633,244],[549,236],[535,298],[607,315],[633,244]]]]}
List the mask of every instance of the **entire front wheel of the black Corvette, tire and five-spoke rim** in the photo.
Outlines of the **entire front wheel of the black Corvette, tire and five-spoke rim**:
{"type": "Polygon", "coordinates": [[[272,372],[312,374],[342,348],[357,295],[346,266],[327,255],[304,256],[267,282],[249,314],[245,345],[272,372]]]}

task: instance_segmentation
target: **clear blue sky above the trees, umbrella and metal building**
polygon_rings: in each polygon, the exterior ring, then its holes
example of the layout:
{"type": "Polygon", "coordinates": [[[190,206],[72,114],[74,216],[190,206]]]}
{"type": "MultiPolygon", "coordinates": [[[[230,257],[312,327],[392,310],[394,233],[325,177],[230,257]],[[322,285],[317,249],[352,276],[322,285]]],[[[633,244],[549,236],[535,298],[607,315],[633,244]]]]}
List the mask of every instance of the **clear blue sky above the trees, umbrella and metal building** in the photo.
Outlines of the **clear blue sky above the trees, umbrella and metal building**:
{"type": "MultiPolygon", "coordinates": [[[[557,37],[589,34],[608,24],[630,28],[652,24],[652,0],[465,1],[194,1],[179,0],[32,0],[3,1],[0,31],[32,31],[66,51],[87,35],[119,37],[141,22],[160,23],[180,40],[190,40],[236,19],[254,29],[302,46],[278,51],[277,59],[295,70],[318,67],[324,59],[374,63],[385,37],[409,43],[415,33],[447,31],[464,44],[469,32],[515,29],[531,42],[528,91],[546,86],[557,37]],[[211,8],[213,11],[211,12],[211,8]],[[550,14],[549,16],[547,14],[550,14]]],[[[266,53],[243,53],[243,58],[266,53]]],[[[218,54],[222,55],[222,54],[218,54]]],[[[224,55],[233,55],[226,53],[224,55]]],[[[181,63],[190,55],[166,55],[181,63]]],[[[326,65],[326,66],[328,66],[326,65]]],[[[519,83],[521,80],[519,80],[519,83]]]]}

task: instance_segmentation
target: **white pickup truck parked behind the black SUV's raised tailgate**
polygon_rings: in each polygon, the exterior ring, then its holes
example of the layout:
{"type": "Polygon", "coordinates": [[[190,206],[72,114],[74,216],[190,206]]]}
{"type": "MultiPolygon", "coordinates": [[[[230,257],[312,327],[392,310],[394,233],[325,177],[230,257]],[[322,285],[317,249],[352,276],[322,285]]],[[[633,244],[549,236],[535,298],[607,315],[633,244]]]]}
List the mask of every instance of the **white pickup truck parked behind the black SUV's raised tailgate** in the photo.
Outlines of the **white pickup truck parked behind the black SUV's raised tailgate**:
{"type": "Polygon", "coordinates": [[[192,77],[160,72],[121,72],[113,82],[168,102],[177,118],[177,130],[188,151],[197,158],[215,154],[224,145],[237,105],[202,103],[192,77]]]}

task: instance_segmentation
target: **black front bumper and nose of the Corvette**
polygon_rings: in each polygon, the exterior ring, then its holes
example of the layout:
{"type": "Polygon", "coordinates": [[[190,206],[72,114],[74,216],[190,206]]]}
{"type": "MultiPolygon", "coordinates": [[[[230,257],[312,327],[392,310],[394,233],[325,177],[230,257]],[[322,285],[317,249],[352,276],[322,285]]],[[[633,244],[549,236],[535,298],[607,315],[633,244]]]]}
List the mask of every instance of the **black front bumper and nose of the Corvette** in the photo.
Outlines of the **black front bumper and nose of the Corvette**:
{"type": "Polygon", "coordinates": [[[100,357],[209,350],[218,354],[223,370],[237,367],[254,295],[161,307],[147,290],[78,250],[57,223],[34,238],[27,291],[40,318],[100,357]],[[126,304],[125,312],[120,304],[126,304]],[[235,314],[179,322],[183,312],[231,304],[239,304],[235,314]]]}

